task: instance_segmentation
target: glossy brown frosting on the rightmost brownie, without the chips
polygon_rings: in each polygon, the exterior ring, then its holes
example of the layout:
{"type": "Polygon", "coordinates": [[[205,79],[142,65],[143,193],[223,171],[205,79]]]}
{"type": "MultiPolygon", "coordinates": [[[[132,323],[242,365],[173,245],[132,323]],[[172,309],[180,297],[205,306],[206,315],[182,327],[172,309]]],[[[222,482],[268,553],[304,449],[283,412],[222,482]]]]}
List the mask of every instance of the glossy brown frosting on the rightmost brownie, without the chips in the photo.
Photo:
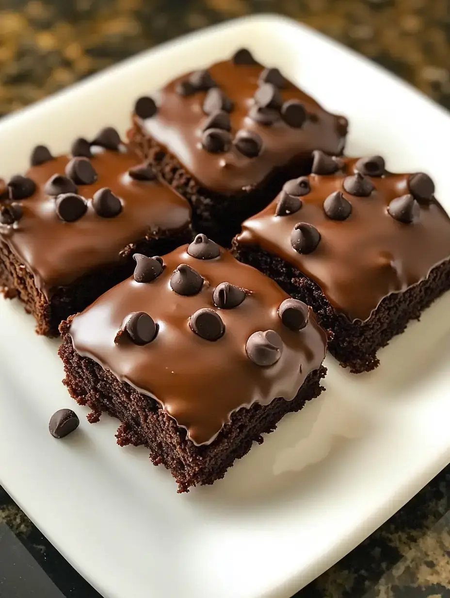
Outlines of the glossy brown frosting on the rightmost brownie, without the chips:
{"type": "Polygon", "coordinates": [[[354,184],[349,175],[357,171],[357,160],[345,158],[342,164],[335,174],[310,175],[311,190],[300,198],[301,208],[275,216],[281,191],[267,208],[243,223],[236,240],[240,246],[261,247],[283,258],[314,280],[336,310],[351,321],[366,321],[384,297],[424,280],[434,266],[450,257],[450,219],[431,194],[414,201],[412,222],[399,221],[388,206],[405,195],[412,202],[414,175],[368,176],[364,181],[369,186],[372,182],[374,190],[358,197],[344,189],[354,184]],[[351,204],[350,215],[341,220],[330,218],[324,209],[325,200],[336,191],[351,204]],[[299,222],[313,225],[320,233],[317,247],[308,254],[299,254],[292,246],[292,230],[299,222]]]}

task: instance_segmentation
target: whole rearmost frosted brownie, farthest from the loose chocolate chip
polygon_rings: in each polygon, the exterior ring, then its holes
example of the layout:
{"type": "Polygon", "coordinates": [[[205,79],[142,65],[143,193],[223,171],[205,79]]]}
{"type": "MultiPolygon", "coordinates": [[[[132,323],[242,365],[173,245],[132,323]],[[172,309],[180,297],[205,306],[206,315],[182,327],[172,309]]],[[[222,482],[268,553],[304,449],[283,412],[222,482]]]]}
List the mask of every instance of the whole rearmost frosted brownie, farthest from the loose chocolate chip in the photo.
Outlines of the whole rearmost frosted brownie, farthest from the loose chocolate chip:
{"type": "Polygon", "coordinates": [[[229,246],[311,151],[342,152],[347,119],[326,112],[248,50],[137,99],[131,142],[194,208],[194,228],[229,246]]]}

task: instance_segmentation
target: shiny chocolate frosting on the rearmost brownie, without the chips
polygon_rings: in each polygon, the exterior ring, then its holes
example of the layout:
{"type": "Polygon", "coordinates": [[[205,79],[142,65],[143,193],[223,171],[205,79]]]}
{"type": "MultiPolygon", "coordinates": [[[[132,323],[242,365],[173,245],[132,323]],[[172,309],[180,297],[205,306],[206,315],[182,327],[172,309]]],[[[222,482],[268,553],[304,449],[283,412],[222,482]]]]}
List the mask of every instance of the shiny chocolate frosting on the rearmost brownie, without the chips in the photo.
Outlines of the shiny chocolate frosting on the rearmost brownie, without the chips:
{"type": "Polygon", "coordinates": [[[155,94],[158,108],[152,117],[141,119],[135,114],[134,121],[146,135],[175,155],[202,187],[226,195],[261,185],[276,170],[308,159],[313,149],[340,153],[347,132],[345,118],[326,112],[289,81],[279,90],[281,99],[302,103],[308,114],[302,127],[290,127],[281,118],[264,126],[249,117],[263,70],[258,64],[236,65],[232,60],[209,68],[218,88],[234,105],[229,112],[231,138],[235,139],[236,133],[244,129],[258,133],[262,139],[262,151],[256,157],[246,157],[235,145],[220,153],[202,147],[202,129],[208,118],[203,111],[207,92],[196,91],[189,96],[177,93],[179,84],[188,81],[192,74],[177,78],[155,94]]]}

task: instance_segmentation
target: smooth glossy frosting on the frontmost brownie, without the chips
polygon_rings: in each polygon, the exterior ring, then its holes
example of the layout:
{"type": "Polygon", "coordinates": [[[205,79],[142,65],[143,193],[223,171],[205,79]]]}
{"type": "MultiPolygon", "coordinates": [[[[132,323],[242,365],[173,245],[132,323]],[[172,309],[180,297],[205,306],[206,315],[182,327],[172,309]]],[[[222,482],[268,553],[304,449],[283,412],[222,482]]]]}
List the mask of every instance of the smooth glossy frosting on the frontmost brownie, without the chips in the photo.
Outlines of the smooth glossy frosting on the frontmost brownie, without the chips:
{"type": "Polygon", "coordinates": [[[259,271],[238,263],[224,249],[219,257],[202,260],[183,246],[163,260],[164,270],[156,279],[140,283],[131,277],[69,319],[69,334],[79,354],[157,399],[195,444],[212,442],[240,407],[266,405],[278,396],[292,399],[322,364],[326,335],[313,313],[300,331],[287,328],[278,307],[288,295],[259,271]],[[170,286],[180,264],[203,277],[197,294],[180,295],[170,286]],[[236,307],[215,306],[213,292],[223,282],[246,289],[236,307]],[[225,331],[218,340],[206,340],[192,329],[191,316],[203,308],[222,319],[225,331]],[[145,312],[157,324],[157,335],[148,344],[134,344],[126,334],[115,342],[133,312],[145,312]],[[266,330],[277,332],[283,347],[274,365],[261,367],[250,360],[246,343],[254,332],[266,330]]]}

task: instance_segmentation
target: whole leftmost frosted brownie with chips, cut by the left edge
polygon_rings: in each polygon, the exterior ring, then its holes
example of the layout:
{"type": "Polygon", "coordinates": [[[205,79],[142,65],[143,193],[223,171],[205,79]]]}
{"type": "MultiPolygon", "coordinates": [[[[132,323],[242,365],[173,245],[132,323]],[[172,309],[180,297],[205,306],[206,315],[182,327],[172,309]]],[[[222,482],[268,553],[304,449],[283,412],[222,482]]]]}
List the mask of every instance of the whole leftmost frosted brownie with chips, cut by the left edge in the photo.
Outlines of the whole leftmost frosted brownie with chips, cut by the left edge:
{"type": "MultiPolygon", "coordinates": [[[[1,191],[1,189],[0,189],[1,191]]],[[[70,155],[32,152],[0,197],[0,285],[57,335],[63,319],[130,276],[133,253],[192,240],[191,207],[108,127],[70,155]]]]}

